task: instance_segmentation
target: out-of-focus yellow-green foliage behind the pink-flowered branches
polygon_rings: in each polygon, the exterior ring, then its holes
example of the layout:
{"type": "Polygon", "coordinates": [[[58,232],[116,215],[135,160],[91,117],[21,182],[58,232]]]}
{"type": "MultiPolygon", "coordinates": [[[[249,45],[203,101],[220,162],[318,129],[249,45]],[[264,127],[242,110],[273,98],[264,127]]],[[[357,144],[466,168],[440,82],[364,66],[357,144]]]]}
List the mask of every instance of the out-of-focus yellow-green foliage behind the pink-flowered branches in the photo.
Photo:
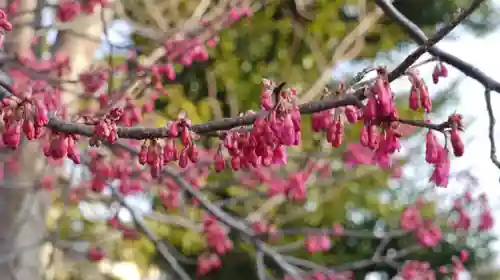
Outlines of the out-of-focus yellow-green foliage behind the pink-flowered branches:
{"type": "MultiPolygon", "coordinates": [[[[189,14],[198,1],[184,0],[183,10],[180,15],[189,14]],[[184,10],[185,9],[185,10],[184,10]]],[[[357,2],[357,1],[356,1],[357,2]]],[[[434,0],[408,0],[396,1],[395,5],[410,19],[426,30],[434,30],[436,24],[446,20],[455,11],[459,2],[463,1],[434,1],[434,0]],[[425,13],[422,12],[425,7],[425,13]]],[[[329,61],[338,44],[357,24],[356,17],[346,16],[343,8],[353,4],[354,1],[317,1],[315,7],[309,12],[310,17],[301,15],[295,7],[295,1],[267,1],[267,7],[257,12],[251,20],[244,20],[220,34],[220,43],[210,50],[211,59],[208,62],[195,63],[192,67],[179,67],[179,73],[175,81],[165,81],[168,96],[160,98],[157,111],[165,119],[174,118],[179,110],[183,109],[194,123],[205,122],[213,119],[215,109],[220,107],[224,116],[231,112],[243,112],[245,110],[258,108],[261,90],[261,78],[272,77],[277,81],[286,81],[291,86],[307,89],[321,74],[320,61],[317,57],[323,57],[329,61]],[[303,32],[297,32],[296,29],[303,32]],[[319,52],[311,46],[316,45],[319,52]],[[214,81],[208,79],[208,75],[215,75],[214,81]],[[215,84],[214,84],[215,83],[215,84]],[[214,95],[209,95],[209,87],[215,87],[214,95]],[[231,102],[233,100],[234,102],[231,102]]],[[[140,4],[139,4],[140,5],[140,4]]],[[[460,4],[461,5],[461,4],[460,4]]],[[[367,10],[374,6],[373,1],[368,1],[367,10]]],[[[131,6],[132,7],[132,6],[131,6]]],[[[130,8],[138,10],[136,8],[130,8]]],[[[140,10],[140,9],[139,9],[140,10]]],[[[489,10],[484,12],[487,13],[489,10]]],[[[128,11],[131,17],[137,15],[137,11],[128,11]]],[[[136,18],[137,19],[137,18],[136,18]]],[[[142,18],[142,22],[152,22],[151,19],[142,18]]],[[[470,21],[470,26],[476,30],[485,29],[479,20],[470,21]]],[[[157,47],[156,43],[146,40],[139,35],[134,35],[134,41],[138,46],[146,50],[157,47]]],[[[363,48],[354,60],[372,59],[380,53],[386,53],[408,40],[406,34],[396,25],[389,23],[386,19],[372,26],[363,40],[363,48]]],[[[117,59],[119,61],[119,59],[117,59]]],[[[118,84],[119,81],[116,82],[118,84]]],[[[434,100],[437,107],[443,105],[446,98],[434,100]]],[[[422,119],[422,113],[415,113],[407,109],[406,99],[398,99],[400,115],[408,119],[422,119]]],[[[328,154],[325,160],[340,164],[340,168],[333,169],[330,177],[333,180],[328,183],[311,184],[309,203],[314,203],[314,211],[305,210],[298,203],[282,203],[269,212],[268,217],[281,227],[304,227],[323,226],[328,227],[333,223],[347,223],[355,229],[372,231],[377,220],[383,220],[387,224],[394,225],[398,222],[399,213],[404,205],[396,203],[382,203],[378,198],[380,193],[389,188],[391,170],[380,170],[375,167],[360,166],[346,169],[342,165],[345,145],[340,149],[328,149],[328,153],[318,151],[318,144],[322,136],[312,133],[311,119],[305,116],[302,120],[303,144],[300,149],[291,151],[290,155],[301,155],[304,153],[328,154]],[[348,219],[349,209],[361,209],[367,211],[374,217],[364,221],[362,224],[353,224],[348,219]]],[[[346,128],[346,143],[353,143],[359,139],[359,126],[348,126],[346,128]]],[[[402,160],[405,163],[405,160],[402,160]]],[[[303,166],[302,162],[291,160],[287,165],[289,170],[298,170],[303,166]]],[[[227,199],[245,196],[248,192],[245,186],[232,182],[231,171],[220,174],[211,174],[209,183],[221,185],[215,191],[207,191],[211,199],[227,199]],[[229,182],[226,184],[226,182],[229,182]]],[[[412,186],[408,186],[412,187],[412,186]]],[[[257,191],[265,192],[267,186],[258,186],[257,191]]],[[[255,197],[245,200],[234,207],[224,210],[237,216],[244,216],[247,209],[255,209],[266,199],[255,197]]],[[[160,203],[155,200],[155,208],[158,212],[167,213],[160,203]]],[[[195,209],[186,209],[191,217],[199,217],[200,213],[195,209]]],[[[426,214],[431,216],[435,213],[435,206],[426,206],[426,214]]],[[[168,214],[175,214],[169,212],[168,214]]],[[[73,210],[68,211],[68,218],[63,226],[63,234],[69,227],[73,210]]],[[[160,238],[163,238],[171,247],[178,249],[178,253],[188,257],[196,255],[205,249],[203,237],[197,233],[174,226],[164,225],[159,222],[148,221],[148,225],[160,238]]],[[[85,234],[95,235],[98,227],[102,225],[85,224],[85,234]]],[[[286,236],[281,240],[282,244],[297,241],[298,236],[286,236]]],[[[483,239],[484,241],[484,239],[483,239]]],[[[335,239],[333,249],[324,254],[311,256],[311,260],[318,263],[342,264],[345,262],[363,260],[371,256],[379,241],[354,240],[347,243],[345,239],[335,239]],[[349,245],[353,244],[353,245],[349,245]]],[[[395,240],[394,248],[400,248],[409,242],[405,236],[395,240]]],[[[168,270],[168,266],[161,260],[154,249],[153,244],[146,238],[138,241],[115,241],[110,247],[116,248],[113,258],[133,260],[142,269],[151,263],[158,264],[168,270]]],[[[474,248],[471,248],[473,250],[474,248]]],[[[432,253],[433,265],[448,263],[451,255],[459,250],[451,245],[443,244],[440,252],[421,251],[409,258],[429,259],[432,253]]],[[[256,279],[252,259],[253,251],[244,246],[244,242],[236,242],[235,251],[224,256],[224,266],[206,279],[256,279]]],[[[297,252],[296,256],[309,258],[304,252],[297,252]]],[[[273,269],[271,264],[270,268],[273,269]]],[[[186,264],[191,274],[195,274],[195,266],[186,264]]],[[[361,279],[367,273],[374,270],[384,270],[388,274],[395,271],[387,266],[371,266],[358,272],[356,277],[361,279]]]]}

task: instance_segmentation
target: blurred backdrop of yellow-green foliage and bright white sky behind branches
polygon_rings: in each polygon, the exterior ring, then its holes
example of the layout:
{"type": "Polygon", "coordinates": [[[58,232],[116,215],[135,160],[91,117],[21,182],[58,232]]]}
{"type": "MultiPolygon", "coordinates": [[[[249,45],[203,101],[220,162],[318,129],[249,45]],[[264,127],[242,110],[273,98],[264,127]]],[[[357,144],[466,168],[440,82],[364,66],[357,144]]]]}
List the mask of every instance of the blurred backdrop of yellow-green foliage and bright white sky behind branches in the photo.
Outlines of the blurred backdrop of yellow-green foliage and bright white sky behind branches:
{"type": "MultiPolygon", "coordinates": [[[[48,30],[46,44],[50,46],[60,30],[53,9],[58,3],[45,1],[47,8],[42,10],[42,26],[48,30]]],[[[196,13],[200,5],[210,10],[221,2],[116,1],[120,3],[113,5],[119,8],[116,8],[117,12],[106,32],[100,34],[100,46],[95,53],[96,60],[112,61],[116,65],[127,60],[131,48],[137,51],[139,59],[150,53],[159,44],[152,38],[157,34],[170,34],[179,23],[196,13]]],[[[394,5],[427,34],[432,34],[457,7],[466,7],[469,2],[397,0],[394,5]]],[[[372,16],[375,7],[371,0],[268,0],[265,3],[248,3],[252,7],[264,7],[255,8],[251,18],[224,29],[218,36],[218,44],[209,48],[210,58],[207,61],[195,62],[191,67],[176,65],[175,79],[162,81],[168,96],[162,95],[156,100],[154,110],[157,114],[149,120],[151,124],[164,124],[166,120],[175,118],[179,109],[185,110],[194,123],[256,110],[262,77],[286,81],[289,86],[296,87],[301,103],[319,99],[321,91],[311,88],[335,88],[371,66],[387,65],[390,69],[416,48],[406,33],[384,16],[375,24],[363,27],[369,22],[367,18],[372,16]]],[[[489,1],[438,46],[500,80],[500,55],[497,51],[500,47],[499,11],[500,1],[489,1]]],[[[427,58],[424,56],[421,60],[427,58]]],[[[303,145],[290,151],[289,164],[279,172],[298,170],[308,158],[318,158],[326,162],[330,169],[324,178],[312,183],[309,199],[304,205],[277,205],[268,213],[269,218],[283,227],[344,223],[351,228],[373,232],[397,223],[401,211],[416,197],[425,197],[427,215],[439,216],[449,212],[454,199],[472,189],[487,194],[495,218],[499,219],[500,172],[489,159],[483,89],[451,67],[449,77],[435,85],[431,82],[434,67],[434,63],[429,63],[419,68],[422,77],[428,81],[436,108],[430,119],[441,122],[451,113],[458,112],[466,120],[466,152],[464,157],[452,161],[453,180],[448,188],[435,188],[428,182],[431,168],[423,156],[425,131],[416,130],[409,134],[402,145],[403,150],[398,153],[397,165],[385,170],[365,165],[359,159],[346,160],[346,157],[356,154],[357,127],[346,130],[345,144],[335,150],[323,147],[320,135],[304,130],[303,145]]],[[[116,84],[123,83],[124,79],[117,76],[116,84]]],[[[409,119],[423,119],[423,114],[408,109],[409,89],[410,84],[404,78],[393,85],[401,115],[409,119]]],[[[492,103],[494,107],[500,106],[498,96],[493,96],[492,103]]],[[[310,130],[310,118],[306,117],[304,123],[305,129],[310,130]]],[[[207,146],[210,144],[206,143],[207,146]]],[[[67,173],[83,174],[72,176],[68,184],[78,186],[85,180],[85,172],[81,168],[71,163],[65,163],[65,167],[67,173]]],[[[230,171],[210,175],[203,184],[206,184],[205,189],[209,189],[207,193],[213,196],[214,201],[247,195],[241,178],[230,171]]],[[[177,214],[163,207],[151,193],[128,196],[126,199],[158,236],[174,244],[187,256],[184,265],[194,273],[193,259],[203,247],[199,234],[165,222],[169,217],[175,219],[177,214]]],[[[248,210],[245,207],[254,209],[255,205],[263,202],[255,198],[248,205],[229,205],[227,210],[244,213],[248,210]]],[[[105,202],[86,200],[65,205],[63,199],[54,196],[47,219],[49,228],[55,228],[57,221],[62,230],[61,238],[73,240],[75,246],[81,248],[88,247],[88,242],[83,240],[110,237],[102,242],[109,254],[106,260],[95,265],[64,251],[59,252],[59,257],[54,257],[55,249],[47,245],[46,250],[51,252],[48,255],[52,258],[47,279],[173,279],[168,266],[148,240],[142,238],[130,242],[112,238],[112,232],[105,226],[111,216],[110,206],[105,202]]],[[[124,222],[131,221],[126,209],[121,209],[119,216],[124,222]]],[[[443,220],[443,225],[447,222],[443,220]]],[[[466,277],[464,279],[500,279],[500,258],[497,256],[500,243],[496,241],[499,233],[500,226],[495,226],[491,234],[477,233],[463,239],[457,238],[452,231],[446,232],[446,238],[439,246],[419,250],[407,258],[427,260],[438,268],[448,264],[451,256],[466,248],[471,258],[466,262],[468,273],[462,275],[466,277]]],[[[293,243],[299,239],[287,236],[286,242],[293,243]]],[[[356,238],[334,240],[332,250],[308,258],[320,264],[363,260],[369,258],[378,242],[381,241],[356,238]]],[[[409,241],[402,237],[391,242],[393,244],[389,247],[398,249],[409,241]]],[[[297,253],[298,256],[301,254],[297,253]]],[[[223,261],[225,265],[220,271],[203,279],[256,279],[254,263],[244,249],[235,250],[223,261]]],[[[397,269],[389,265],[373,265],[356,271],[355,276],[356,279],[390,279],[396,273],[397,269]]]]}

